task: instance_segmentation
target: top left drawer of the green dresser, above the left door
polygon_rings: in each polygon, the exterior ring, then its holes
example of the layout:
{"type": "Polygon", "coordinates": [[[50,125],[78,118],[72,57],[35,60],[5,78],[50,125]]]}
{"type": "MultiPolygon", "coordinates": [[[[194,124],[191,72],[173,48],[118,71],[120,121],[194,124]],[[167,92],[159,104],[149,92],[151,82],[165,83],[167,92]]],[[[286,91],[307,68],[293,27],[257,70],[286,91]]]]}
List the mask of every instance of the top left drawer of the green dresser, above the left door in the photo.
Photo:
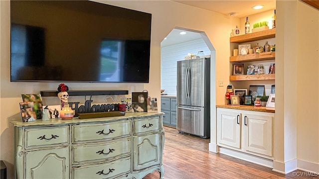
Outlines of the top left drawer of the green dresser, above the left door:
{"type": "Polygon", "coordinates": [[[25,129],[25,148],[69,143],[69,126],[25,129]]]}

